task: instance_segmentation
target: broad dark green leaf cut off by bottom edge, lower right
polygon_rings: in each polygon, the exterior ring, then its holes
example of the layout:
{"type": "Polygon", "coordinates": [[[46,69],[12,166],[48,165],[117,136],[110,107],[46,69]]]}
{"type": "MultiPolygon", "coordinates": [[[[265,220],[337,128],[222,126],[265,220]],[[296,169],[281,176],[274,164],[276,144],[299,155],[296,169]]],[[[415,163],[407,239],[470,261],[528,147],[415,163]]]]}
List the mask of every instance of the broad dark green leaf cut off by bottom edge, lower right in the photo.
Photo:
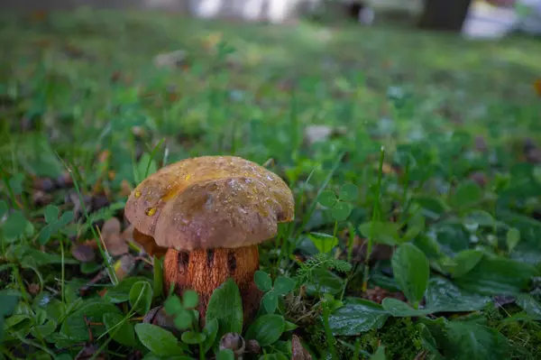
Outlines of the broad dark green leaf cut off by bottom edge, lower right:
{"type": "MultiPolygon", "coordinates": [[[[487,328],[473,322],[450,321],[447,336],[451,346],[446,346],[450,358],[491,360],[509,358],[507,338],[494,328],[487,328]]],[[[447,356],[447,354],[445,353],[447,356]]]]}

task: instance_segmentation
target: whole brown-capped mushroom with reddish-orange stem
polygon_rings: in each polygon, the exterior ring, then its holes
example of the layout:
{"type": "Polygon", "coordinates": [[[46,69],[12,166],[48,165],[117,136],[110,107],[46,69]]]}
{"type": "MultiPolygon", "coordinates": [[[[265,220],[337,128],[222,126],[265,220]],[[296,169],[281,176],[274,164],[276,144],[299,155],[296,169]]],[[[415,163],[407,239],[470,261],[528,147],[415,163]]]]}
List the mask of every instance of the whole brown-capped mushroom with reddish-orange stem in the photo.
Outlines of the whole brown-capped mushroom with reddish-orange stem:
{"type": "Polygon", "coordinates": [[[253,281],[258,245],[277,234],[279,223],[293,220],[294,200],[278,175],[255,162],[202,156],[143,180],[124,214],[145,249],[165,252],[166,291],[173,283],[179,295],[197,291],[204,324],[210,296],[230,277],[241,292],[244,319],[257,311],[262,295],[253,281]]]}

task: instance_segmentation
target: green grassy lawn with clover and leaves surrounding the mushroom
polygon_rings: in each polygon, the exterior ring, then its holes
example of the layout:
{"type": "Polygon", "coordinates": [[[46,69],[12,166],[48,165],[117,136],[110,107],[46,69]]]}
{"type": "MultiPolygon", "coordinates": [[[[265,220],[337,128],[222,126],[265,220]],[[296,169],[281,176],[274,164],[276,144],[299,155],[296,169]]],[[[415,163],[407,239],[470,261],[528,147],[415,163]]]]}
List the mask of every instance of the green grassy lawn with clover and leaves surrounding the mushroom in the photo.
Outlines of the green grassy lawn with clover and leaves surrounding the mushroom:
{"type": "Polygon", "coordinates": [[[0,43],[0,359],[233,359],[227,332],[247,359],[541,358],[538,39],[83,10],[3,14],[0,43]],[[295,198],[257,316],[225,282],[203,329],[124,217],[202,155],[295,198]]]}

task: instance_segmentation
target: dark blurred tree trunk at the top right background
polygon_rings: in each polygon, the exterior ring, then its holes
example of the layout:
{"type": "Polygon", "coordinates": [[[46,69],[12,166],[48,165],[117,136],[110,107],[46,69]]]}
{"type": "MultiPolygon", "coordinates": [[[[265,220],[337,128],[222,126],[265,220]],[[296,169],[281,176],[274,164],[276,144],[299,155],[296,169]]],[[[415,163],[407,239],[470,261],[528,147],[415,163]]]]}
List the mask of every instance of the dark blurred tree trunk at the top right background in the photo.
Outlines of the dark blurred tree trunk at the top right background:
{"type": "Polygon", "coordinates": [[[472,0],[425,0],[419,27],[460,32],[472,0]]]}

